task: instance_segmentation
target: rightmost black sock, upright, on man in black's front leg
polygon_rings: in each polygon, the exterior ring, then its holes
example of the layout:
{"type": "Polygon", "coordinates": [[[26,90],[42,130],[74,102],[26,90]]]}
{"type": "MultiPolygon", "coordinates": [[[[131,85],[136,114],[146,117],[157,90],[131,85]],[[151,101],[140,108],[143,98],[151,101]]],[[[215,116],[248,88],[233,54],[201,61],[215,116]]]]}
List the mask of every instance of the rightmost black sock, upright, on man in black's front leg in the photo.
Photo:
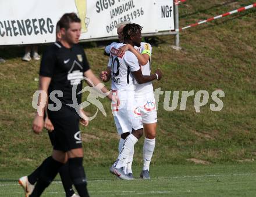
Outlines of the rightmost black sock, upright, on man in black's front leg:
{"type": "Polygon", "coordinates": [[[83,158],[69,159],[70,178],[80,197],[89,196],[87,191],[86,174],[84,173],[83,158]]]}

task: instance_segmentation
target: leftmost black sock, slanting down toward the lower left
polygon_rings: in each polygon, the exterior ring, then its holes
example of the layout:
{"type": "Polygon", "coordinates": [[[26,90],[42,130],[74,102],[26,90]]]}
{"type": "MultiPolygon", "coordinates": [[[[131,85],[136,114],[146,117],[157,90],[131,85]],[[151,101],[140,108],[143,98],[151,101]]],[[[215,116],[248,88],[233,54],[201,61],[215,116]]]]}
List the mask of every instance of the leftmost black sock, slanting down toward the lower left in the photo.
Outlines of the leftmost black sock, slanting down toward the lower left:
{"type": "Polygon", "coordinates": [[[56,177],[59,172],[59,168],[63,165],[63,163],[54,160],[51,156],[49,159],[45,160],[42,169],[40,170],[40,176],[35,185],[35,188],[30,197],[38,197],[41,196],[42,192],[45,188],[51,184],[52,180],[56,177]]]}

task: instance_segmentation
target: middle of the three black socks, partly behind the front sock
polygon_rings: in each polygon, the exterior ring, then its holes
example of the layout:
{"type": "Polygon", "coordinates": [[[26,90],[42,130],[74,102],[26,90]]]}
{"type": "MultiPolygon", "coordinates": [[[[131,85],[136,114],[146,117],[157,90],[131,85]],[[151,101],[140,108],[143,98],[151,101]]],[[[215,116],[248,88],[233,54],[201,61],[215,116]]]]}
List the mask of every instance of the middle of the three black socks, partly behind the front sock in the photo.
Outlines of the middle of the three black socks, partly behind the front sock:
{"type": "Polygon", "coordinates": [[[74,194],[74,190],[72,188],[72,181],[69,176],[69,162],[61,166],[61,168],[59,169],[59,175],[61,176],[61,181],[63,188],[66,192],[66,196],[72,196],[74,194]]]}

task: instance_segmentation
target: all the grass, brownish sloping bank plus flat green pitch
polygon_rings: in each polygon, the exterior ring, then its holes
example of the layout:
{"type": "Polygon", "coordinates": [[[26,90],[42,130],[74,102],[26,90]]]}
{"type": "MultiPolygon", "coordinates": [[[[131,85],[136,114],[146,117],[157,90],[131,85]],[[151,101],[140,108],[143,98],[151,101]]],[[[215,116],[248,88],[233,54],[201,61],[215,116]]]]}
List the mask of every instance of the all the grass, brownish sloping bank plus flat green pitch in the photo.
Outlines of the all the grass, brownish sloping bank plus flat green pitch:
{"type": "MultiPolygon", "coordinates": [[[[180,27],[205,20],[254,1],[194,0],[180,5],[180,27]]],[[[108,173],[118,155],[118,136],[110,103],[101,100],[107,116],[99,112],[87,128],[81,127],[84,166],[91,196],[255,196],[256,182],[256,9],[233,14],[180,34],[182,50],[170,48],[173,36],[157,37],[153,45],[153,70],[163,79],[154,82],[163,91],[223,90],[222,111],[209,110],[209,102],[194,109],[194,96],[185,111],[158,108],[157,144],[150,181],[120,181],[108,173]],[[191,162],[210,163],[194,165],[191,162]]],[[[108,58],[102,43],[83,44],[95,74],[105,70],[108,58]]],[[[40,47],[44,50],[45,46],[40,47]]],[[[21,61],[23,49],[0,49],[0,196],[23,196],[17,178],[31,173],[51,154],[47,132],[31,131],[33,93],[38,87],[40,63],[21,61]]],[[[106,84],[109,87],[109,84],[106,84]]],[[[84,99],[86,94],[84,95],[84,99]]],[[[172,94],[171,94],[172,98],[172,94]]],[[[172,100],[172,99],[171,99],[172,100]]],[[[85,109],[93,114],[95,107],[85,109]]],[[[142,166],[143,140],[135,147],[133,169],[142,166]]],[[[59,178],[57,178],[59,180],[59,178]]],[[[63,196],[61,184],[52,184],[45,196],[63,196]]]]}

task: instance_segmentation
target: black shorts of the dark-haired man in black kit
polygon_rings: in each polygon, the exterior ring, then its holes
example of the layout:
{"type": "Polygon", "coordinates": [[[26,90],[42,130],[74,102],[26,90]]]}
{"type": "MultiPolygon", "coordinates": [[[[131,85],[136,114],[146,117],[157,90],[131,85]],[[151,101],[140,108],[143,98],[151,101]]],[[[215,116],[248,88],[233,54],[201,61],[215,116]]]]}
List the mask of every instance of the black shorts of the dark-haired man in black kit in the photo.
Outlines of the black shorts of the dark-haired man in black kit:
{"type": "Polygon", "coordinates": [[[54,131],[49,133],[49,137],[55,150],[67,152],[82,147],[79,116],[58,118],[49,116],[49,118],[54,125],[54,131]]]}

